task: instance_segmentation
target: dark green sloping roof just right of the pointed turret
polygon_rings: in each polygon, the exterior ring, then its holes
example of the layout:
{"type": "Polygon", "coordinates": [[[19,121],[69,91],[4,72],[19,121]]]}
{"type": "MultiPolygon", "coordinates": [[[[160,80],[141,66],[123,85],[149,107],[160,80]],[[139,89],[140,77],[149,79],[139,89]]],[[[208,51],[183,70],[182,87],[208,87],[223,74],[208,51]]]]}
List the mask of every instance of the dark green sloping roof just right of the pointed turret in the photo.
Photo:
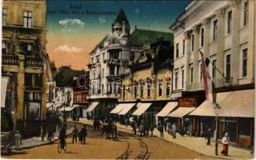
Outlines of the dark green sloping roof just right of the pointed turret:
{"type": "Polygon", "coordinates": [[[158,41],[170,41],[170,43],[173,44],[174,34],[171,32],[135,28],[129,38],[131,46],[142,46],[146,42],[155,43],[158,41]]]}

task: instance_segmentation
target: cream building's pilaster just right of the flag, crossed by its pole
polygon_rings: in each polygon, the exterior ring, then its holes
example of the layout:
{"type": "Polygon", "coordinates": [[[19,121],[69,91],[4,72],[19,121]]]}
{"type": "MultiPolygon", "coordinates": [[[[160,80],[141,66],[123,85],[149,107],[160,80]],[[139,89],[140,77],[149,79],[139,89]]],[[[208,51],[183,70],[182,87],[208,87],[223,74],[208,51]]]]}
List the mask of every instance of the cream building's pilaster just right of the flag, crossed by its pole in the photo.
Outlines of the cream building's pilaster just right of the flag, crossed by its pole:
{"type": "MultiPolygon", "coordinates": [[[[217,68],[224,73],[224,34],[225,34],[225,9],[220,8],[216,11],[218,16],[218,30],[217,30],[217,68]]],[[[223,79],[222,75],[217,73],[216,79],[223,79]]],[[[223,86],[222,81],[217,81],[216,86],[223,86]]]]}

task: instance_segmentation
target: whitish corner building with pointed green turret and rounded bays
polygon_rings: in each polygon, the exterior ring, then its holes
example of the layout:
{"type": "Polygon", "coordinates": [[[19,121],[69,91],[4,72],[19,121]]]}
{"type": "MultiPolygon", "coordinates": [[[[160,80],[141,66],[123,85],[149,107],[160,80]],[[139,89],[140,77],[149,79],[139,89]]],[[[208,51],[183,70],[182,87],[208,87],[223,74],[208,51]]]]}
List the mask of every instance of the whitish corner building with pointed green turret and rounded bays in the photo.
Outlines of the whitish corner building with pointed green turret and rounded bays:
{"type": "Polygon", "coordinates": [[[111,27],[110,34],[90,52],[90,97],[94,102],[89,111],[97,107],[95,115],[106,115],[118,102],[121,78],[128,69],[130,57],[137,58],[142,44],[134,45],[136,36],[130,34],[130,25],[123,10],[120,10],[111,27]],[[98,103],[98,102],[101,103],[98,103]]]}

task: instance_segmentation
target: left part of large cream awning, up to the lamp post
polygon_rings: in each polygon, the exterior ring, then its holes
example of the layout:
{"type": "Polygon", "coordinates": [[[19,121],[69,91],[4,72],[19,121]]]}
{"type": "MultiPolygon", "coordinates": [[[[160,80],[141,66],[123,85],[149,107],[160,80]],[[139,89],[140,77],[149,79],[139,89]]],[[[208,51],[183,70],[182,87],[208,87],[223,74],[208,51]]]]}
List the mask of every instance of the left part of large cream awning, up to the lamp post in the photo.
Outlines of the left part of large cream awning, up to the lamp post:
{"type": "Polygon", "coordinates": [[[206,100],[205,102],[202,102],[202,104],[189,115],[215,117],[216,114],[214,110],[214,105],[206,100]]]}

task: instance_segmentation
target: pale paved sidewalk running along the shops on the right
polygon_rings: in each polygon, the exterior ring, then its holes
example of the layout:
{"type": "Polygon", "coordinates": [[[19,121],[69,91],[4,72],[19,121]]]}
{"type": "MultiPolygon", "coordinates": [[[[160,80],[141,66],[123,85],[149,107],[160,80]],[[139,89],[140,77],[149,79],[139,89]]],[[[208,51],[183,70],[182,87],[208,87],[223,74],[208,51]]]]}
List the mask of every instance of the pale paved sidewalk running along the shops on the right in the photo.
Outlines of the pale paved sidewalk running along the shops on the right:
{"type": "MultiPolygon", "coordinates": [[[[71,121],[71,120],[69,120],[71,121]]],[[[84,124],[93,125],[93,122],[90,120],[87,120],[86,118],[80,118],[79,122],[82,122],[84,124]]],[[[132,133],[132,128],[130,126],[121,126],[118,123],[118,130],[132,133]]],[[[154,129],[154,136],[157,136],[160,138],[160,133],[157,129],[154,129]]],[[[190,150],[194,150],[200,154],[205,154],[208,156],[216,157],[216,158],[227,158],[227,159],[253,159],[254,156],[250,154],[250,150],[237,148],[234,146],[229,147],[229,154],[228,156],[223,156],[220,152],[222,150],[222,144],[218,144],[218,156],[215,155],[215,143],[211,142],[211,146],[206,145],[206,138],[200,138],[200,137],[187,137],[187,136],[180,136],[180,134],[177,134],[176,138],[172,138],[170,134],[167,132],[164,132],[164,140],[169,142],[174,142],[175,144],[178,144],[179,146],[184,146],[190,150]]]]}

